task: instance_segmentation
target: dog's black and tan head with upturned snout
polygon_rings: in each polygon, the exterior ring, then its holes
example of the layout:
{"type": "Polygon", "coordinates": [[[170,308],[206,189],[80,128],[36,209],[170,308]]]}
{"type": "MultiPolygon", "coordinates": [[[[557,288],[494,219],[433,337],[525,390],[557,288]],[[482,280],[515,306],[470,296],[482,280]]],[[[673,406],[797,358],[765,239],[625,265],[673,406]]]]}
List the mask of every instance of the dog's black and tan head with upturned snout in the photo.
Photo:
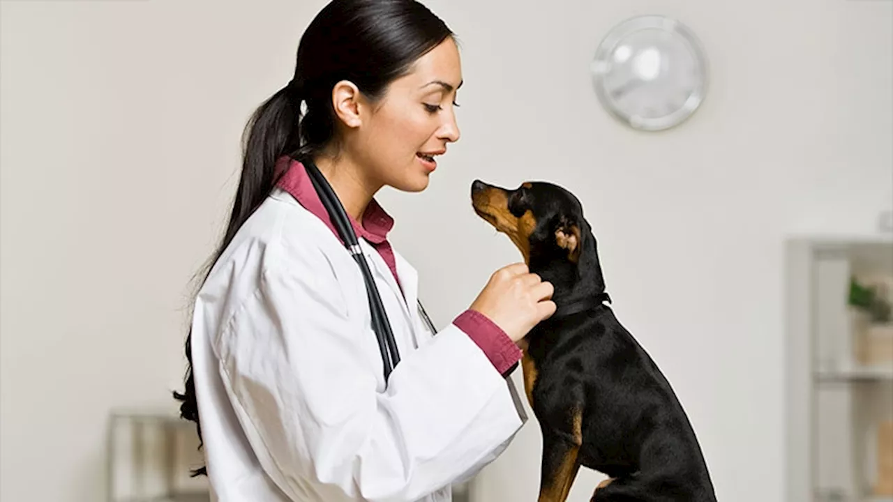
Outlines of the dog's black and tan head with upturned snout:
{"type": "Polygon", "coordinates": [[[545,181],[507,189],[475,180],[472,207],[512,239],[531,270],[533,264],[578,264],[584,240],[592,238],[577,197],[545,181]]]}

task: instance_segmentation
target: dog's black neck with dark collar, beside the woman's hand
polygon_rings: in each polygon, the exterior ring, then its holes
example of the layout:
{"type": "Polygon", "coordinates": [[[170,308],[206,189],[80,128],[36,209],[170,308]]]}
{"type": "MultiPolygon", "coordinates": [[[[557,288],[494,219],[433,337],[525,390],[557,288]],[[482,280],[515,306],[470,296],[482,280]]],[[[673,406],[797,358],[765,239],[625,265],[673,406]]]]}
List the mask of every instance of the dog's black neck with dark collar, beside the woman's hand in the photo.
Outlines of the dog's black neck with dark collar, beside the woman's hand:
{"type": "Polygon", "coordinates": [[[570,260],[556,262],[554,258],[530,257],[530,272],[537,273],[555,287],[552,296],[557,310],[552,316],[576,314],[595,308],[605,300],[610,301],[605,292],[605,278],[598,261],[596,239],[591,232],[582,238],[580,259],[574,264],[570,260]]]}

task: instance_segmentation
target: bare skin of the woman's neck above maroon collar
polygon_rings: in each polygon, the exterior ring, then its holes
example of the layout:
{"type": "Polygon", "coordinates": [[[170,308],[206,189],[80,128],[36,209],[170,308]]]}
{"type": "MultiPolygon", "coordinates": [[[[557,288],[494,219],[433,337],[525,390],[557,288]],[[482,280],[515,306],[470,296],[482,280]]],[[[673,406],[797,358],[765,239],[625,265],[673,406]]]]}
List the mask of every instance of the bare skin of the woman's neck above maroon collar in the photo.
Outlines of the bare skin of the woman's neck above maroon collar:
{"type": "Polygon", "coordinates": [[[337,159],[320,155],[313,162],[335,190],[346,213],[362,225],[363,213],[381,185],[364,176],[363,168],[346,155],[337,159]]]}

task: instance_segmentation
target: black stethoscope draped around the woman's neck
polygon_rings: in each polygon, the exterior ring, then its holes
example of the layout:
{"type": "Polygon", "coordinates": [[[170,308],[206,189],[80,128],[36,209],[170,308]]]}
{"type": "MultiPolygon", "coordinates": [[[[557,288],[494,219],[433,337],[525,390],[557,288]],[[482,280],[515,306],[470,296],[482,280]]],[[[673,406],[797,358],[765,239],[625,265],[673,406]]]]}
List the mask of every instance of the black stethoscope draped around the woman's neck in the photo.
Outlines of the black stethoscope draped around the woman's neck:
{"type": "MultiPolygon", "coordinates": [[[[385,381],[387,382],[390,373],[394,371],[394,367],[400,362],[400,354],[396,348],[394,332],[391,330],[390,322],[388,322],[388,313],[385,312],[385,307],[381,303],[379,289],[375,285],[375,280],[372,278],[369,264],[366,263],[366,258],[363,255],[363,249],[360,247],[360,243],[356,239],[354,227],[350,224],[350,219],[344,210],[344,206],[341,205],[341,201],[338,199],[338,196],[335,195],[335,191],[332,190],[329,181],[322,176],[322,173],[319,168],[316,167],[316,164],[309,159],[301,159],[301,163],[304,164],[307,173],[310,175],[310,180],[313,182],[313,188],[316,188],[316,193],[320,196],[322,206],[326,209],[326,212],[329,213],[332,224],[334,224],[335,229],[338,230],[338,235],[341,236],[341,239],[344,241],[347,251],[354,256],[356,264],[360,266],[360,271],[363,272],[363,280],[366,283],[366,294],[369,297],[369,309],[372,315],[372,329],[375,330],[375,336],[379,340],[379,350],[381,352],[381,359],[384,361],[385,381]]],[[[425,322],[425,325],[428,330],[430,330],[431,334],[433,335],[437,333],[437,330],[434,328],[434,323],[431,322],[428,313],[425,312],[425,307],[421,305],[421,300],[418,302],[418,309],[421,320],[425,322]]]]}

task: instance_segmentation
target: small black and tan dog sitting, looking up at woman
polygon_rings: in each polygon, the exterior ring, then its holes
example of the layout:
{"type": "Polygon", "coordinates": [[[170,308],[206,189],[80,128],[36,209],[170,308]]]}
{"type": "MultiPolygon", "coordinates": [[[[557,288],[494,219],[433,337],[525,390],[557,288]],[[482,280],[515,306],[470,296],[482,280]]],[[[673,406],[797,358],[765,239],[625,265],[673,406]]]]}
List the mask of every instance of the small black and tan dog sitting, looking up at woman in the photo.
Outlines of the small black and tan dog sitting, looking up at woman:
{"type": "Polygon", "coordinates": [[[524,388],[543,437],[539,501],[567,498],[580,465],[605,473],[593,502],[715,501],[689,418],[605,305],[596,238],[577,197],[546,182],[472,183],[472,206],[555,286],[555,314],[525,338],[524,388]]]}

